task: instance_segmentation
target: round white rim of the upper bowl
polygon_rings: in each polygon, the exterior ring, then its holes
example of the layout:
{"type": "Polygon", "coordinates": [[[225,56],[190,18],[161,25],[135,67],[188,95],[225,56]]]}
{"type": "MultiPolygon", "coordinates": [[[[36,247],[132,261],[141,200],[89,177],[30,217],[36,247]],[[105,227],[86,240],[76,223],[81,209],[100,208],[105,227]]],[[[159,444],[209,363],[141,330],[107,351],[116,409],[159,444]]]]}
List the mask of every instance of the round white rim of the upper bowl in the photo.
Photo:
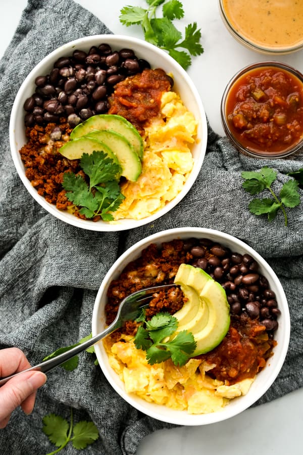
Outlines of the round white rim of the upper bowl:
{"type": "MultiPolygon", "coordinates": [[[[157,65],[156,65],[157,66],[157,65]]],[[[155,66],[155,67],[156,67],[155,66]]],[[[186,106],[186,100],[183,100],[185,106],[186,106]]],[[[196,117],[196,116],[195,116],[196,117]]],[[[89,231],[96,231],[96,232],[116,232],[116,231],[124,231],[128,229],[135,229],[139,226],[142,226],[144,224],[147,224],[149,222],[155,221],[156,219],[160,218],[162,215],[166,214],[169,212],[172,208],[174,208],[188,193],[192,185],[194,184],[194,181],[196,180],[198,173],[201,169],[201,166],[203,165],[203,161],[205,158],[206,154],[206,148],[207,148],[207,140],[208,140],[208,124],[207,124],[207,117],[206,117],[206,112],[203,106],[203,103],[201,101],[201,98],[198,94],[197,88],[194,85],[192,79],[189,77],[188,73],[171,57],[169,56],[165,51],[159,49],[153,44],[150,44],[143,39],[140,38],[133,38],[131,36],[127,35],[122,35],[122,34],[95,34],[95,35],[90,35],[90,36],[84,36],[82,38],[77,38],[75,40],[69,41],[51,53],[47,54],[42,60],[40,60],[37,65],[32,68],[32,70],[29,72],[29,74],[26,76],[24,81],[19,87],[18,93],[15,97],[14,104],[12,107],[11,111],[11,116],[10,116],[10,124],[9,124],[9,136],[10,136],[10,149],[11,149],[11,155],[12,159],[15,165],[15,168],[19,174],[19,177],[22,180],[23,185],[27,189],[27,191],[30,193],[30,195],[35,199],[38,204],[40,204],[47,212],[51,213],[54,215],[56,218],[60,219],[61,221],[64,221],[68,224],[74,225],[78,228],[84,229],[84,230],[89,230],[89,231]],[[198,118],[196,120],[198,121],[198,133],[197,133],[197,139],[196,144],[199,147],[199,154],[198,157],[194,158],[194,165],[193,168],[185,181],[182,190],[178,193],[178,195],[172,200],[169,201],[164,207],[162,207],[160,210],[158,210],[156,213],[142,218],[141,220],[134,220],[131,218],[128,219],[122,219],[118,221],[112,221],[112,222],[105,222],[103,220],[99,220],[98,222],[90,221],[90,220],[82,220],[80,218],[77,218],[75,215],[69,214],[67,211],[62,211],[57,209],[57,207],[54,204],[50,204],[46,202],[43,196],[38,195],[38,192],[32,187],[30,181],[27,179],[25,176],[25,168],[24,164],[21,161],[21,158],[19,156],[19,150],[16,139],[15,139],[15,127],[17,125],[18,121],[18,113],[20,110],[20,107],[23,109],[23,102],[22,99],[24,98],[24,93],[26,92],[26,87],[28,84],[33,83],[33,80],[35,79],[35,76],[37,76],[40,73],[40,69],[43,70],[45,66],[51,66],[52,63],[55,63],[55,61],[61,57],[65,52],[71,53],[74,48],[77,47],[89,47],[89,45],[92,45],[92,41],[98,41],[98,42],[109,42],[112,44],[113,48],[116,46],[117,48],[120,47],[122,49],[123,47],[137,47],[138,51],[137,53],[140,54],[143,52],[143,50],[148,50],[148,52],[153,52],[155,54],[155,60],[157,60],[157,56],[160,56],[161,58],[164,58],[167,60],[168,65],[172,69],[172,73],[179,73],[179,79],[182,80],[182,82],[185,82],[187,86],[190,88],[191,94],[192,94],[192,100],[194,100],[196,109],[198,112],[198,118]],[[119,45],[119,41],[122,41],[122,43],[119,45]],[[61,55],[62,54],[62,55],[61,55]]]]}

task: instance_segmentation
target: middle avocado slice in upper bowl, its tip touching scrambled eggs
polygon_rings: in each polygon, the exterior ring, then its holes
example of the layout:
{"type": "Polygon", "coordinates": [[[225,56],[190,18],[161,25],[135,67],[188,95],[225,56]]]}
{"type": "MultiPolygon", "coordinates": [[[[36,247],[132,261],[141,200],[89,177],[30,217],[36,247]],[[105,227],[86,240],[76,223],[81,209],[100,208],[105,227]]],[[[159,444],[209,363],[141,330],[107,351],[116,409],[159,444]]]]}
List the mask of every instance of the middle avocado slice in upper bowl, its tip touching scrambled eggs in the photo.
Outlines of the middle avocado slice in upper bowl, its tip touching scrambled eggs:
{"type": "Polygon", "coordinates": [[[83,137],[96,139],[108,146],[118,158],[122,167],[122,175],[127,180],[137,180],[142,171],[141,161],[134,148],[122,134],[111,129],[96,129],[83,137]]]}

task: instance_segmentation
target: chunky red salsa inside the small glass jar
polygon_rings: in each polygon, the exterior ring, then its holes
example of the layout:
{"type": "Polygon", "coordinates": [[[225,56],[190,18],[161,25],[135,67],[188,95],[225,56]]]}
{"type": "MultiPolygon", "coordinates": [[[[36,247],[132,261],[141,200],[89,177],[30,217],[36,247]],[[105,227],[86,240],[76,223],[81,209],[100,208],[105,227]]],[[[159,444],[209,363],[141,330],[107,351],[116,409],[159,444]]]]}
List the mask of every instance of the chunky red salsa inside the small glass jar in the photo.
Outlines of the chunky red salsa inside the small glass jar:
{"type": "Polygon", "coordinates": [[[283,154],[303,139],[303,79],[274,65],[250,69],[231,85],[225,116],[248,151],[283,154]]]}

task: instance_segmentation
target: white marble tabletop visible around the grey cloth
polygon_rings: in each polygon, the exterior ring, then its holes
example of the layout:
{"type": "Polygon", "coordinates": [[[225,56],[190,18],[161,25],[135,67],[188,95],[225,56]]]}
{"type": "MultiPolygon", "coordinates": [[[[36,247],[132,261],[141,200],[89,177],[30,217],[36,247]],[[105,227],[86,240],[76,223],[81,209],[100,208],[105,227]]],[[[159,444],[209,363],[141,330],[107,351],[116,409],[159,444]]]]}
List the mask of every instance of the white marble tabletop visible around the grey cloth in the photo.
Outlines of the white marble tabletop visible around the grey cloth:
{"type": "MultiPolygon", "coordinates": [[[[145,7],[143,0],[112,0],[110,7],[102,0],[78,0],[114,32],[142,38],[139,27],[125,27],[119,22],[120,10],[131,4],[145,7]]],[[[0,57],[4,54],[18,25],[25,0],[0,2],[0,57]]],[[[218,11],[217,0],[183,0],[185,19],[177,26],[184,29],[197,22],[201,28],[204,54],[193,59],[188,70],[206,109],[210,124],[223,134],[220,102],[230,78],[242,67],[270,58],[242,47],[228,33],[218,11]]],[[[180,28],[180,29],[181,29],[180,28]]],[[[278,59],[303,72],[303,51],[278,59]]],[[[303,389],[271,403],[252,408],[228,421],[204,427],[183,427],[161,430],[147,436],[138,455],[299,455],[303,424],[303,389]]]]}

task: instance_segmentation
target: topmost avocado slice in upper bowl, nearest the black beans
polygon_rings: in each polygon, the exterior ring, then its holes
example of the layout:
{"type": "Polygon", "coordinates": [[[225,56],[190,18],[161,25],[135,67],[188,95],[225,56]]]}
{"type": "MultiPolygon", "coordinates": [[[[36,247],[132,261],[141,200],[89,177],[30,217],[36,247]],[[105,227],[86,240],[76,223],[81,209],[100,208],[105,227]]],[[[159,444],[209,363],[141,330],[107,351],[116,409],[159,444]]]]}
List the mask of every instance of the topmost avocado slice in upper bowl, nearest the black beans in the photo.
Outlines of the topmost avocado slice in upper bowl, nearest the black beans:
{"type": "Polygon", "coordinates": [[[71,133],[71,140],[81,138],[95,129],[111,129],[122,136],[133,146],[140,159],[143,157],[143,141],[136,128],[121,115],[99,114],[76,126],[71,133]]]}

